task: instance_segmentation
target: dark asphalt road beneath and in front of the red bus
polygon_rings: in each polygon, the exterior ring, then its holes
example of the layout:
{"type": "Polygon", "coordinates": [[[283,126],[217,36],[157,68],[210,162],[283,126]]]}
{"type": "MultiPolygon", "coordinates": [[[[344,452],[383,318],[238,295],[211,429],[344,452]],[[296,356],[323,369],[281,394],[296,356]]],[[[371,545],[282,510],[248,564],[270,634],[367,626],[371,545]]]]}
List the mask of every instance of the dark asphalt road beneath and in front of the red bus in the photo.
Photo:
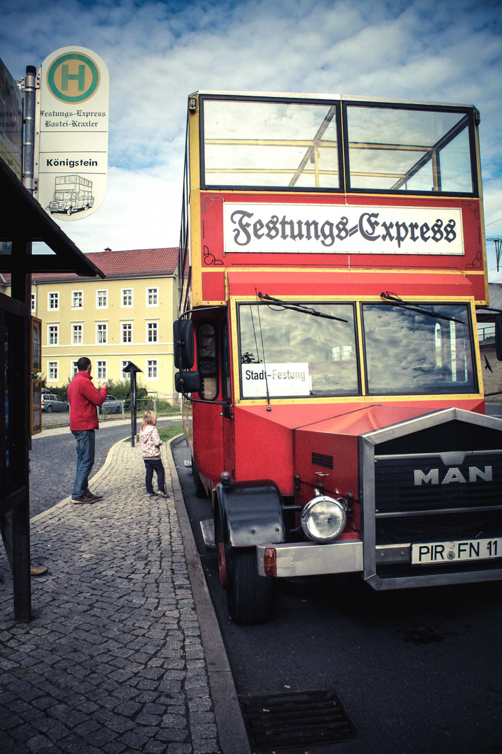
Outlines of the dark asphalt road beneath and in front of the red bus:
{"type": "Polygon", "coordinates": [[[272,621],[236,626],[202,543],[211,505],[193,495],[189,459],[182,441],[175,462],[238,694],[334,689],[357,727],[355,740],[289,754],[502,752],[500,582],[376,593],[278,581],[272,621]]]}

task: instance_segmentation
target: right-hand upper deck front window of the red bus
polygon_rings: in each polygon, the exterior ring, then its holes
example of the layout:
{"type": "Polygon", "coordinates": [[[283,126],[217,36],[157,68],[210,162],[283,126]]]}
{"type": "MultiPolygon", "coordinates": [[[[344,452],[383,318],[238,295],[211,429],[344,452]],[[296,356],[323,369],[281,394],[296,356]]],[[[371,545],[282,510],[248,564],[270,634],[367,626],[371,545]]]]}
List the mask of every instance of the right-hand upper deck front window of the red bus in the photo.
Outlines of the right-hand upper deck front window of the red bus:
{"type": "Polygon", "coordinates": [[[348,105],[350,189],[473,193],[468,126],[466,112],[348,105]]]}

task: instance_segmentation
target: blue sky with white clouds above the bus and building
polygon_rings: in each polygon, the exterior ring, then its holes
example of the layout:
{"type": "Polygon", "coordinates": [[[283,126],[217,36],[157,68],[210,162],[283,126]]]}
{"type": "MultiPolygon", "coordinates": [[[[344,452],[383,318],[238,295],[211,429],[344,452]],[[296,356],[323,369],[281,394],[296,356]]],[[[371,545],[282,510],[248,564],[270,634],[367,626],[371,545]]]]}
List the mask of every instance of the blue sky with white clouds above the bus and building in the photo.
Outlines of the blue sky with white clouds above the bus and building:
{"type": "Polygon", "coordinates": [[[502,0],[0,0],[14,78],[69,45],[108,66],[108,194],[60,223],[84,252],[178,245],[187,95],[199,89],[474,104],[486,231],[502,237],[501,34],[502,0]]]}

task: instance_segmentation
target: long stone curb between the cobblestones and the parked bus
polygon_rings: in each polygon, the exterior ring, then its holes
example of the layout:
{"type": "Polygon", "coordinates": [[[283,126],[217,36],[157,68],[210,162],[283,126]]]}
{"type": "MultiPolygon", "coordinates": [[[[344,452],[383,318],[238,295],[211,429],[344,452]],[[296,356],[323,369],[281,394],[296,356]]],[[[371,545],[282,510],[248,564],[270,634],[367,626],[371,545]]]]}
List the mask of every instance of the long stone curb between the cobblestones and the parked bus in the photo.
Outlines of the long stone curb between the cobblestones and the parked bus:
{"type": "Polygon", "coordinates": [[[213,603],[211,602],[211,596],[205,583],[200,556],[193,538],[187,509],[184,506],[178,471],[172,458],[172,446],[177,445],[180,440],[184,440],[183,434],[178,434],[177,437],[172,438],[169,442],[169,450],[167,444],[164,447],[166,448],[167,463],[171,472],[172,490],[176,510],[178,510],[178,520],[180,522],[181,536],[187,558],[193,600],[196,605],[197,617],[199,618],[221,752],[223,754],[251,754],[248,734],[245,731],[227,651],[223,637],[221,636],[220,627],[218,626],[213,603]]]}

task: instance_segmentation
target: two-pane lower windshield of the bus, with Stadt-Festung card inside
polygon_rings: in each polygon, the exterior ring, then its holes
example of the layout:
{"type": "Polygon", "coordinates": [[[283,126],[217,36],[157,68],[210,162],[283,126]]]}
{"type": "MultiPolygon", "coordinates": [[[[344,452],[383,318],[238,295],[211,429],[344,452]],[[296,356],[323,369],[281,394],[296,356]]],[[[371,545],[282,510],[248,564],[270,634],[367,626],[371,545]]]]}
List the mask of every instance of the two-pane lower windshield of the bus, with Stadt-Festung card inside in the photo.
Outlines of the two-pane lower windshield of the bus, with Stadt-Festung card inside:
{"type": "MultiPolygon", "coordinates": [[[[301,304],[345,322],[279,305],[239,305],[242,398],[361,395],[355,305],[301,304]]],[[[468,306],[412,306],[361,304],[366,393],[477,392],[468,306]]]]}

